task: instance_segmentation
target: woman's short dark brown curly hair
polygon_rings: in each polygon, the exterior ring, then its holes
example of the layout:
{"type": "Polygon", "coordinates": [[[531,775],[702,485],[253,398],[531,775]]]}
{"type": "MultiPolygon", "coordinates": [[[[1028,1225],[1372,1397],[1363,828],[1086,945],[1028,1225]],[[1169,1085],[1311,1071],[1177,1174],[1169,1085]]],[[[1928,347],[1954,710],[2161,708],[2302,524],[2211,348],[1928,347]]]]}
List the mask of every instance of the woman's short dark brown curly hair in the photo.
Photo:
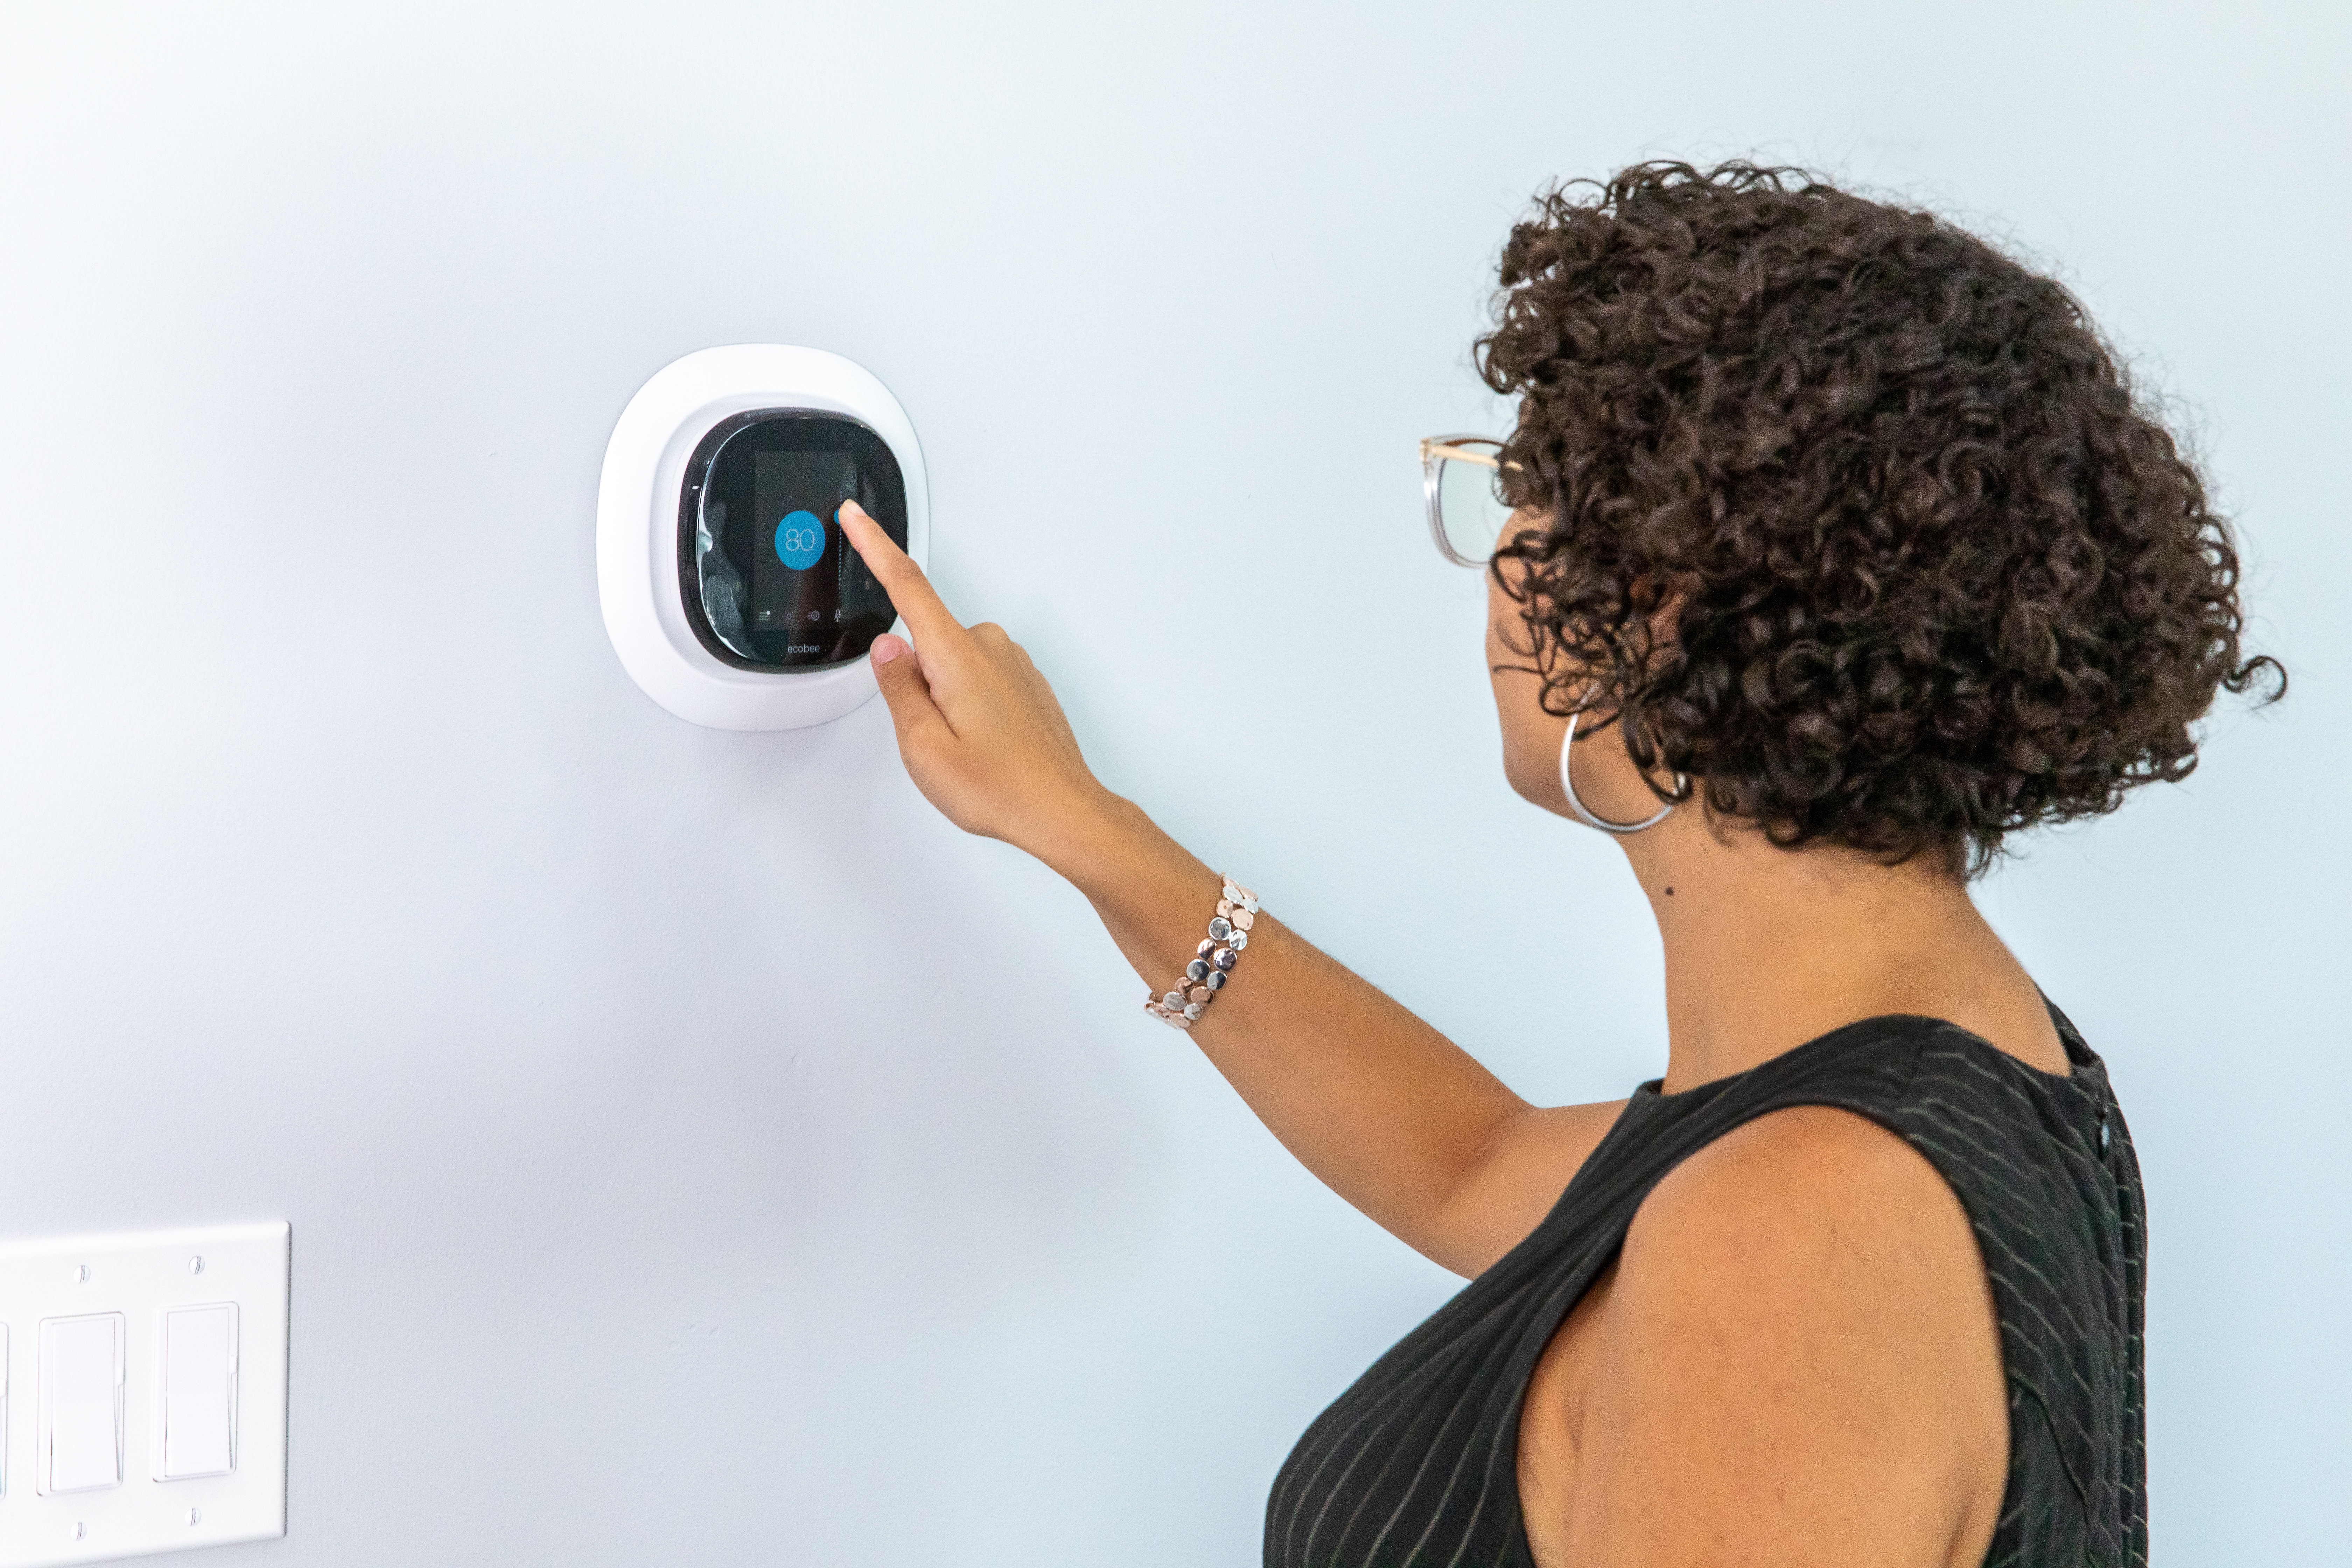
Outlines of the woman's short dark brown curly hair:
{"type": "MultiPolygon", "coordinates": [[[[2082,306],[1926,212],[1748,162],[1541,197],[1479,374],[1550,712],[1719,818],[1976,875],[2197,766],[2246,691],[2230,529],[2082,306]]],[[[1515,567],[1505,569],[1505,562],[1515,567]]]]}

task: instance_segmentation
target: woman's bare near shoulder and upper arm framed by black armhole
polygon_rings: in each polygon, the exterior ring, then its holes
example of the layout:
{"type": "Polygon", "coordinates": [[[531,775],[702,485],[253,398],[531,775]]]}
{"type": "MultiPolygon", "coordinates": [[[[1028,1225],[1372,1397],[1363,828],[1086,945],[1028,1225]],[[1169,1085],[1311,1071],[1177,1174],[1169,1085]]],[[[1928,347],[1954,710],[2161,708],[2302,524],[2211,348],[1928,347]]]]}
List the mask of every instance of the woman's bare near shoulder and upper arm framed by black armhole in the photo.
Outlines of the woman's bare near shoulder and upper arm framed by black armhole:
{"type": "Polygon", "coordinates": [[[1983,1556],[2009,1453],[1992,1298],[1896,1133],[1792,1107],[1710,1143],[1642,1204],[1597,1328],[1573,1561],[1983,1556]]]}

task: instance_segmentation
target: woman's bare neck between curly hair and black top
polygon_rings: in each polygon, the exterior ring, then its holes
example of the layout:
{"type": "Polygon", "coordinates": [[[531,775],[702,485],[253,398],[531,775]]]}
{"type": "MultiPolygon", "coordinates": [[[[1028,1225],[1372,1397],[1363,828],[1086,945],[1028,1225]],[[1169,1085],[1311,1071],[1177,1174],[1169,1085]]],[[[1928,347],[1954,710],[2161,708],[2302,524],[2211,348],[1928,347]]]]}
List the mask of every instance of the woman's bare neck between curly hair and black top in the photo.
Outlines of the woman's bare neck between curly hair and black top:
{"type": "Polygon", "coordinates": [[[2032,978],[1969,889],[1924,856],[1780,849],[1700,809],[1621,839],[1665,940],[1665,1091],[1745,1072],[1884,1013],[1945,1018],[2067,1072],[2032,978]]]}

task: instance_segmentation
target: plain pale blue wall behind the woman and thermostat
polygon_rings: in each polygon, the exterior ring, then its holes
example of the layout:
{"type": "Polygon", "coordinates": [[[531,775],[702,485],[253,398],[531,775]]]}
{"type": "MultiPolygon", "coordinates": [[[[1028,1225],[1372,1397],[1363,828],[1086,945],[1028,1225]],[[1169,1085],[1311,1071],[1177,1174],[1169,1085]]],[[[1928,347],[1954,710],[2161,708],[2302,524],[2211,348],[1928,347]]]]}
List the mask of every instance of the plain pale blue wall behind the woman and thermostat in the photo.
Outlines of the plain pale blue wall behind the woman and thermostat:
{"type": "Polygon", "coordinates": [[[292,1537],[209,1561],[1254,1561],[1449,1279],[880,705],[640,696],[604,437],[691,348],[861,360],[1115,788],[1623,1093],[1653,933],[1503,788],[1414,440],[1498,418],[1538,183],[1750,148],[2056,266],[2241,520],[2293,698],[1985,898],[2147,1164],[2157,1549],[2340,1547],[2352,31],[1900,9],[0,12],[0,1232],[294,1222],[292,1537]]]}

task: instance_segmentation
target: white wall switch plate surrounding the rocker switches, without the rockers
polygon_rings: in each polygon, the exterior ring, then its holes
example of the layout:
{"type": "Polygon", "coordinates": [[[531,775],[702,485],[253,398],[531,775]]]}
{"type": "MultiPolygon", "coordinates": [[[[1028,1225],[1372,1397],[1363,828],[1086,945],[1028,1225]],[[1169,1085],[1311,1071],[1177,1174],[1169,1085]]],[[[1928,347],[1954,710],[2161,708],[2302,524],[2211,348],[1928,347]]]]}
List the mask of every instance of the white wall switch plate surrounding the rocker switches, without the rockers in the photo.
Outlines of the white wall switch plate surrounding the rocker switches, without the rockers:
{"type": "MultiPolygon", "coordinates": [[[[285,1222],[0,1241],[0,1568],[96,1563],[287,1533],[287,1253],[285,1222]],[[219,1305],[235,1305],[228,1314],[233,1469],[158,1481],[165,1312],[219,1305]],[[125,1328],[122,1481],[42,1493],[40,1326],[106,1312],[120,1312],[125,1328]]],[[[216,1345],[198,1373],[209,1399],[221,1385],[216,1345]]],[[[209,1453],[202,1462],[212,1465],[209,1453]]]]}

